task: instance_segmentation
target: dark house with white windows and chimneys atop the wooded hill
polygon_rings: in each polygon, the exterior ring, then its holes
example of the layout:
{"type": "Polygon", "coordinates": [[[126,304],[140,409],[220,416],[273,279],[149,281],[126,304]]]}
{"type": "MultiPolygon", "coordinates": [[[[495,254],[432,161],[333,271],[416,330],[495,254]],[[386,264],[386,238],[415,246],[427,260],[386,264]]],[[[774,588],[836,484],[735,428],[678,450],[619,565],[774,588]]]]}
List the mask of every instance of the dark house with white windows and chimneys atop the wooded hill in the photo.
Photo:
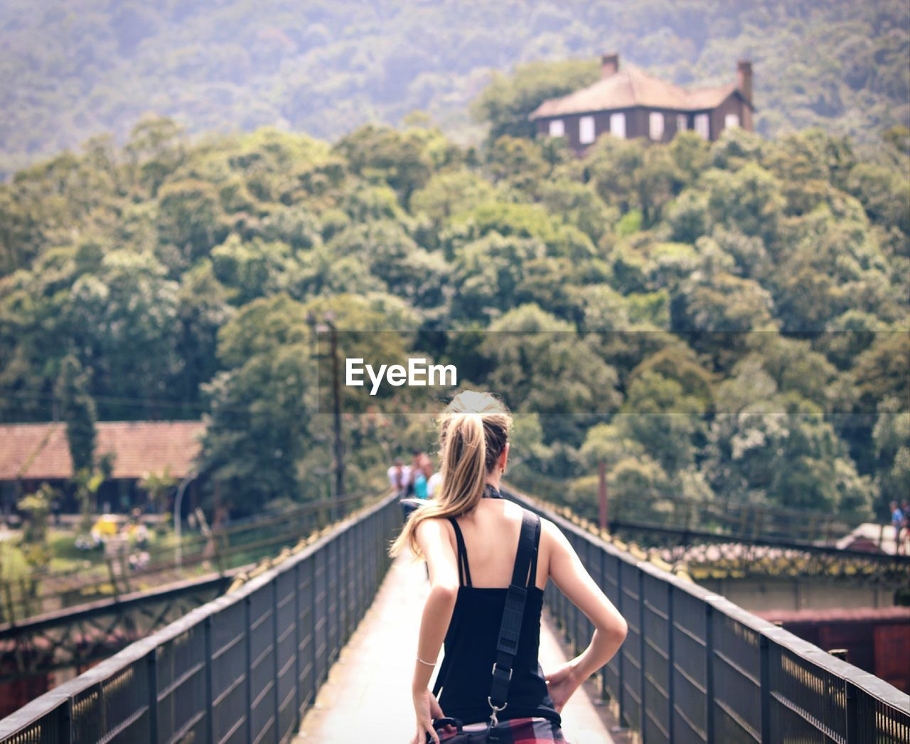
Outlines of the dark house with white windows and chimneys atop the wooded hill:
{"type": "Polygon", "coordinates": [[[601,79],[568,96],[548,98],[531,112],[538,137],[564,137],[581,155],[599,135],[669,142],[693,129],[705,139],[724,129],[753,130],[752,63],[740,61],[737,79],[720,87],[685,89],[638,67],[620,70],[619,55],[601,57],[601,79]]]}

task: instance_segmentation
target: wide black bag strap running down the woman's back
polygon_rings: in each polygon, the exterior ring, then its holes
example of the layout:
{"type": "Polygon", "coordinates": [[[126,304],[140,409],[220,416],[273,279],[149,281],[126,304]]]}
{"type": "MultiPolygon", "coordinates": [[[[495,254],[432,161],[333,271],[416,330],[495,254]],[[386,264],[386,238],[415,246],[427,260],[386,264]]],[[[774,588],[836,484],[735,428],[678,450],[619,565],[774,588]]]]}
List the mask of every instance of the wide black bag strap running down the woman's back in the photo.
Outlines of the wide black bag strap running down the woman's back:
{"type": "Polygon", "coordinates": [[[506,593],[506,604],[502,609],[500,638],[496,645],[496,662],[493,664],[493,681],[490,686],[490,705],[505,708],[509,698],[512,664],[518,653],[521,637],[521,620],[524,618],[524,604],[528,588],[536,583],[537,549],[541,539],[541,519],[522,510],[521,535],[515,555],[512,580],[506,593]]]}

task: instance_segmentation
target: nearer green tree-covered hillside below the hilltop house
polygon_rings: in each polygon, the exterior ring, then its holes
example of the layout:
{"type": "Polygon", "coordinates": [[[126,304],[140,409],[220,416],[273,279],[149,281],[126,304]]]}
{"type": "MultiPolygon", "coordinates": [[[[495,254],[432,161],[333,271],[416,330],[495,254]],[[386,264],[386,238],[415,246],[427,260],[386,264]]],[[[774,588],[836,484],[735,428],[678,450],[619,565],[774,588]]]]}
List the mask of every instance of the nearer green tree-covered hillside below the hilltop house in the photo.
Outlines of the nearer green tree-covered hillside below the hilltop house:
{"type": "MultiPolygon", "coordinates": [[[[148,117],[0,186],[0,421],[201,416],[236,514],[324,496],[334,317],[346,352],[501,393],[511,476],[566,504],[603,463],[614,503],[885,515],[910,484],[908,134],[576,158],[426,117],[335,143],[148,117]]],[[[351,491],[433,447],[430,415],[346,411],[351,491]]]]}

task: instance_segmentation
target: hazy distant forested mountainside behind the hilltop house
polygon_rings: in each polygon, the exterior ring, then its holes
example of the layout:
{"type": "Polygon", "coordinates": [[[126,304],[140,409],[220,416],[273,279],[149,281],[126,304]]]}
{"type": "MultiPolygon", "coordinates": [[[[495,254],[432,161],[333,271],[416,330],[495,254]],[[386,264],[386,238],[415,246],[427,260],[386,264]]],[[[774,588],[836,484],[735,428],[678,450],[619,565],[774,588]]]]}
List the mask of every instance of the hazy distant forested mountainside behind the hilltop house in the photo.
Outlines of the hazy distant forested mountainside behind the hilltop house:
{"type": "MultiPolygon", "coordinates": [[[[425,110],[478,144],[469,104],[490,82],[518,72],[563,93],[576,80],[553,63],[590,82],[613,51],[680,85],[729,82],[751,59],[765,137],[818,126],[877,142],[910,126],[904,0],[0,0],[0,48],[0,178],[95,135],[123,145],[149,111],[190,133],[335,142],[425,110]]],[[[511,127],[526,126],[522,95],[501,112],[511,127]]]]}

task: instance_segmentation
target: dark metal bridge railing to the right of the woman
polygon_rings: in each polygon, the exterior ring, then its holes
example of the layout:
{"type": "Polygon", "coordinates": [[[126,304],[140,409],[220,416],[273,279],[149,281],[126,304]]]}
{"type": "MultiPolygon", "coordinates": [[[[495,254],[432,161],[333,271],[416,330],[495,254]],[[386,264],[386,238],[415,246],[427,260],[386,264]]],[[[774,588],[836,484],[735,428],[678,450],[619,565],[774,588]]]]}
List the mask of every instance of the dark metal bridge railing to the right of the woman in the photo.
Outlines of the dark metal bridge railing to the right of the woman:
{"type": "MultiPolygon", "coordinates": [[[[645,742],[910,742],[910,696],[742,607],[641,561],[521,494],[560,527],[629,625],[602,692],[645,742]]],[[[587,617],[545,601],[581,652],[587,617]]]]}

